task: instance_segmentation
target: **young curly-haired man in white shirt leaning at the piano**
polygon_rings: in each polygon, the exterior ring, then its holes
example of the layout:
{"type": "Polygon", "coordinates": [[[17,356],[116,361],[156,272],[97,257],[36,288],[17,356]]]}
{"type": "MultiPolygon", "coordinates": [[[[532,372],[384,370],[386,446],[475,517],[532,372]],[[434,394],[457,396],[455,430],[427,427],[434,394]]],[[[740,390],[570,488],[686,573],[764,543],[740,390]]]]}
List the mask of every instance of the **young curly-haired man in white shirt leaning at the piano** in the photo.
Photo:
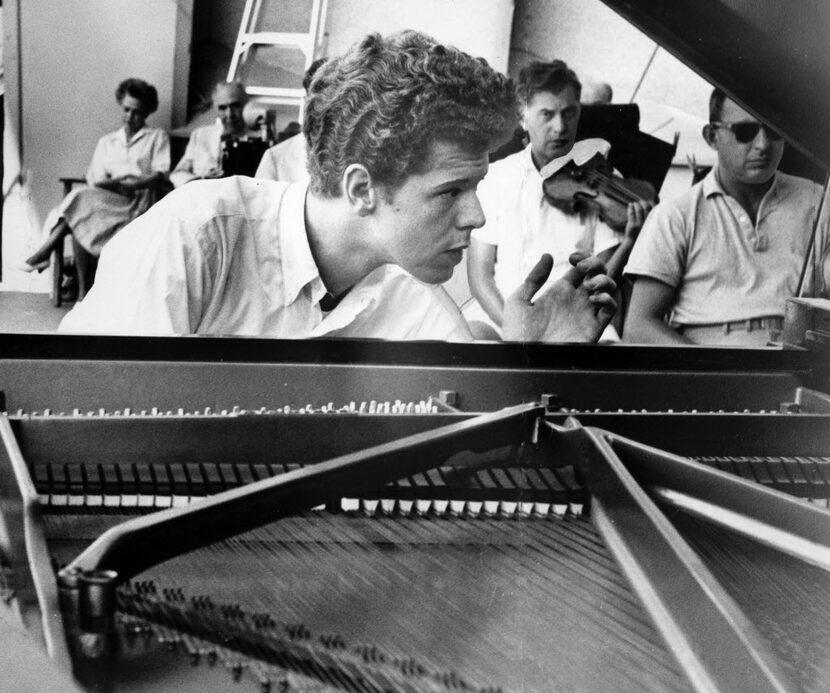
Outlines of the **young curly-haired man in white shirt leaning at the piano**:
{"type": "MultiPolygon", "coordinates": [[[[441,282],[484,223],[476,186],[514,126],[510,81],[427,36],[370,35],[311,83],[310,184],[186,185],[105,249],[63,331],[469,340],[441,282]]],[[[596,259],[505,307],[513,339],[595,340],[615,310],[596,259]]]]}

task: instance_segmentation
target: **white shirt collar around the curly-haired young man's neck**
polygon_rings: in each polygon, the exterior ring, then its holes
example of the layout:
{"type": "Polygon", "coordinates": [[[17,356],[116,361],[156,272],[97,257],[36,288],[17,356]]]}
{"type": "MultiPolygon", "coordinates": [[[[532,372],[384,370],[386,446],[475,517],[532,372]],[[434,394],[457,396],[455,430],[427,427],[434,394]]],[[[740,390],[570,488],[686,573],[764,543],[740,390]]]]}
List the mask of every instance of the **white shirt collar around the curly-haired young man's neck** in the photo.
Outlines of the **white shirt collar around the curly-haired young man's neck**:
{"type": "Polygon", "coordinates": [[[318,303],[326,293],[320,270],[308,244],[305,225],[305,198],[308,185],[289,185],[283,194],[277,236],[283,276],[285,306],[297,300],[300,292],[311,285],[311,299],[318,303]]]}

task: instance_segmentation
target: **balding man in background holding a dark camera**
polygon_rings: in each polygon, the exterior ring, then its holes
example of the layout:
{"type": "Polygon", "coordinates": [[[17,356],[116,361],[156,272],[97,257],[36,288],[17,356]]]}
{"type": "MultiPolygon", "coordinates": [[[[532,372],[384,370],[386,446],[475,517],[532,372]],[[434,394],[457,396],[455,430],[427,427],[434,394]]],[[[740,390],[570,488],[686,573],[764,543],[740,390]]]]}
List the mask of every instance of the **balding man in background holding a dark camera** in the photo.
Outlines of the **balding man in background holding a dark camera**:
{"type": "Polygon", "coordinates": [[[241,82],[219,82],[211,98],[216,122],[196,128],[182,158],[170,174],[175,187],[194,180],[223,178],[256,170],[267,143],[251,133],[243,117],[248,101],[241,82]]]}

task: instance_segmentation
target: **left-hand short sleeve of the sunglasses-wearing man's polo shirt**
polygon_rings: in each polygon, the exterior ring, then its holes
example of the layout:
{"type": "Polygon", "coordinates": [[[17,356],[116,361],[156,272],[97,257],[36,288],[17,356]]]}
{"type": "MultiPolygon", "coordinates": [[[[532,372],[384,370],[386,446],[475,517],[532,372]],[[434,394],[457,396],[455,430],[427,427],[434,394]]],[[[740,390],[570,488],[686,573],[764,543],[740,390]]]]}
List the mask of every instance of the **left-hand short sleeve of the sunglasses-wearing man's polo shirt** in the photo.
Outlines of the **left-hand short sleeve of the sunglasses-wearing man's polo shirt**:
{"type": "Polygon", "coordinates": [[[651,277],[672,287],[679,286],[686,267],[689,232],[675,204],[657,205],[643,224],[623,274],[651,277]]]}

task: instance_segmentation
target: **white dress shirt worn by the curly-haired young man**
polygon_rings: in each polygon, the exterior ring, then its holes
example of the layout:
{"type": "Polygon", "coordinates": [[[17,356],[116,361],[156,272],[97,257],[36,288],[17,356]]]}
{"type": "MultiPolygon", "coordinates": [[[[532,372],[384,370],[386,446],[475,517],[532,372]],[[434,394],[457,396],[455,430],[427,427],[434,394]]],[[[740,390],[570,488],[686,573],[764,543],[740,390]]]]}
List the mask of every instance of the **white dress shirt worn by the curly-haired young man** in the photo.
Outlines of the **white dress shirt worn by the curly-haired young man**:
{"type": "Polygon", "coordinates": [[[60,330],[468,341],[440,286],[377,268],[325,313],[306,187],[233,176],[186,185],[124,228],[60,330]]]}

